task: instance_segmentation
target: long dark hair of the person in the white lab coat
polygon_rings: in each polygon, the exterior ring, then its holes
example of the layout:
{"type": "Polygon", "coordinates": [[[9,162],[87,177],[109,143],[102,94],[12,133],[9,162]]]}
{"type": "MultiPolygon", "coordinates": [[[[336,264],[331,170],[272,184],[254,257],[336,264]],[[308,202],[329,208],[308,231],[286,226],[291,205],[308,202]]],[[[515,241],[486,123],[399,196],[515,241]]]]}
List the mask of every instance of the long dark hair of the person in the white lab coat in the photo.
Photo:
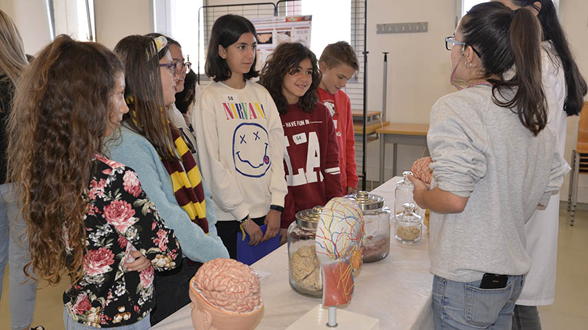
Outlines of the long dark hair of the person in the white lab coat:
{"type": "Polygon", "coordinates": [[[537,15],[541,27],[543,28],[543,40],[551,41],[556,50],[556,54],[563,65],[563,72],[565,73],[565,87],[567,96],[563,110],[568,116],[579,114],[584,104],[584,96],[588,92],[586,80],[580,74],[578,65],[569,50],[565,32],[558,20],[556,7],[553,0],[512,0],[516,6],[527,7],[532,6],[539,14],[537,15]],[[541,8],[537,8],[534,3],[540,2],[541,8]]]}

